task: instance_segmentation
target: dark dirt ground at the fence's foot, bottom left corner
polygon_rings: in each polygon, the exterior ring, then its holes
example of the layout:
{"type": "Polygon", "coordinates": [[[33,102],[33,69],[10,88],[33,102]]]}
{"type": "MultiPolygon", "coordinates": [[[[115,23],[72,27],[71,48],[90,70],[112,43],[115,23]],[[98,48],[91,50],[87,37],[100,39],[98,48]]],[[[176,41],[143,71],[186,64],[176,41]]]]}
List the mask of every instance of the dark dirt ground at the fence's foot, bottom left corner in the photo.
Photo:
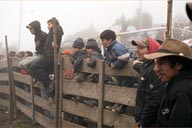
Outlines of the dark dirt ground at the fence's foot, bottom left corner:
{"type": "Polygon", "coordinates": [[[44,128],[39,124],[33,124],[32,120],[23,113],[18,112],[16,120],[10,125],[9,114],[5,110],[0,110],[0,128],[44,128]]]}

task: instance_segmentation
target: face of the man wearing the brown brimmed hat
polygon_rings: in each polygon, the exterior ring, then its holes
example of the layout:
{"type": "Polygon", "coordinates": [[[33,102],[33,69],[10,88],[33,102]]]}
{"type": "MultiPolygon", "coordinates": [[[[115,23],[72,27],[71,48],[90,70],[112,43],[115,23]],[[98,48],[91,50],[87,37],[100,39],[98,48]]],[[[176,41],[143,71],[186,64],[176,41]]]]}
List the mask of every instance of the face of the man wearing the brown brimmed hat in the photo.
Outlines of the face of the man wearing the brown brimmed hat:
{"type": "Polygon", "coordinates": [[[179,63],[172,67],[168,60],[155,59],[154,71],[164,83],[169,82],[178,75],[181,68],[182,66],[179,63]]]}

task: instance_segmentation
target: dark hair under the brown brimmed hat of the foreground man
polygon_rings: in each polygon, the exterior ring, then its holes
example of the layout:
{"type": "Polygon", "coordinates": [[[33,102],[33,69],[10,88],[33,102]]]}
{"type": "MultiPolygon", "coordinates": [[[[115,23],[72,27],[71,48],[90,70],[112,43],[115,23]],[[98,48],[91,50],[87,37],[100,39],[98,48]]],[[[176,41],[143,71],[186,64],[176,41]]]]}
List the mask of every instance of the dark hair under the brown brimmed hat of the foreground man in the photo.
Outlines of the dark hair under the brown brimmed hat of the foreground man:
{"type": "Polygon", "coordinates": [[[170,67],[174,68],[177,63],[181,64],[183,67],[181,70],[191,69],[192,60],[180,57],[180,56],[165,56],[158,59],[159,61],[168,61],[170,62],[170,67]]]}

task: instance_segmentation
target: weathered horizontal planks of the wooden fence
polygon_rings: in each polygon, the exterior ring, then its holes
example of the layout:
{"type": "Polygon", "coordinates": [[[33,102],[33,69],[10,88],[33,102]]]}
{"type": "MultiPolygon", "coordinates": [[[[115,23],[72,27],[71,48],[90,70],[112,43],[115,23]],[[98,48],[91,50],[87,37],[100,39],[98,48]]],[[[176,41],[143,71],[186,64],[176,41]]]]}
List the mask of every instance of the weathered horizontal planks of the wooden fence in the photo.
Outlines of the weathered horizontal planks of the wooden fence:
{"type": "MultiPolygon", "coordinates": [[[[132,63],[130,62],[125,68],[121,70],[112,70],[107,65],[103,65],[103,71],[101,70],[102,66],[97,62],[97,65],[94,69],[89,68],[86,66],[86,62],[83,62],[83,66],[81,70],[83,72],[91,72],[95,74],[102,74],[100,75],[99,83],[89,83],[89,82],[82,82],[77,83],[74,80],[69,79],[61,79],[60,86],[61,93],[63,94],[71,94],[71,95],[78,95],[87,98],[97,99],[99,101],[99,106],[90,107],[84,103],[75,102],[67,99],[63,99],[63,95],[60,95],[60,102],[58,104],[61,108],[60,113],[62,111],[72,113],[74,115],[78,115],[84,118],[87,118],[95,123],[98,123],[98,127],[102,127],[102,125],[114,126],[118,128],[127,128],[127,127],[135,127],[135,121],[133,116],[123,115],[113,113],[111,111],[103,109],[103,101],[124,104],[126,106],[135,106],[135,97],[136,97],[136,89],[135,88],[128,88],[128,87],[119,87],[114,85],[107,85],[103,84],[103,76],[104,74],[110,75],[121,75],[121,76],[132,76],[137,77],[138,74],[132,69],[132,63]]],[[[13,61],[13,66],[18,66],[19,61],[13,61]]],[[[62,69],[71,69],[72,65],[69,62],[69,58],[65,58],[62,61],[62,69]]],[[[8,80],[8,75],[6,73],[0,74],[3,80],[8,80]]],[[[14,80],[25,83],[29,86],[32,86],[32,79],[29,75],[22,75],[20,73],[14,72],[13,74],[14,80]]],[[[60,76],[62,76],[62,72],[60,72],[60,76]]],[[[0,79],[1,80],[1,79],[0,79]]],[[[32,88],[31,88],[32,89],[32,88]]],[[[0,86],[0,92],[8,93],[8,86],[0,86]]],[[[34,105],[40,106],[45,110],[51,111],[54,113],[56,108],[56,104],[50,103],[48,100],[45,100],[39,96],[31,94],[32,92],[26,92],[25,90],[18,88],[15,86],[15,94],[30,102],[33,103],[34,97],[34,105]]],[[[6,104],[6,100],[0,99],[0,104],[6,104]],[[2,101],[2,102],[1,102],[2,101]]],[[[33,108],[27,107],[20,102],[16,102],[17,109],[25,113],[32,119],[35,119],[38,123],[43,125],[47,128],[54,128],[55,121],[47,118],[46,116],[38,113],[33,108]],[[34,115],[33,115],[34,114],[34,115]]],[[[61,115],[61,114],[60,114],[61,115]]],[[[58,121],[62,125],[58,125],[62,128],[84,128],[83,126],[70,123],[65,120],[58,121]]]]}

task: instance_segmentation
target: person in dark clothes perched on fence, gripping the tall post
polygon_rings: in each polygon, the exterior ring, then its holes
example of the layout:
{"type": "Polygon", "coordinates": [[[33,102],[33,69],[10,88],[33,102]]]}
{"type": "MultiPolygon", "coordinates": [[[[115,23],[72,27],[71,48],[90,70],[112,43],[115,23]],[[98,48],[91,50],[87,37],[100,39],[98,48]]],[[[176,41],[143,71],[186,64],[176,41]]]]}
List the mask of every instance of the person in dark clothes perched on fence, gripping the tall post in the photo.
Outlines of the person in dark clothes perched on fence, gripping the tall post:
{"type": "Polygon", "coordinates": [[[49,74],[53,72],[54,68],[54,48],[60,48],[63,36],[63,29],[59,25],[59,22],[56,18],[48,20],[47,24],[49,33],[43,49],[43,54],[36,62],[31,65],[32,76],[43,84],[41,93],[43,93],[44,98],[48,98],[50,96],[49,87],[54,86],[54,82],[52,82],[52,80],[49,78],[49,74]],[[57,42],[53,42],[54,23],[56,24],[57,42]]]}

